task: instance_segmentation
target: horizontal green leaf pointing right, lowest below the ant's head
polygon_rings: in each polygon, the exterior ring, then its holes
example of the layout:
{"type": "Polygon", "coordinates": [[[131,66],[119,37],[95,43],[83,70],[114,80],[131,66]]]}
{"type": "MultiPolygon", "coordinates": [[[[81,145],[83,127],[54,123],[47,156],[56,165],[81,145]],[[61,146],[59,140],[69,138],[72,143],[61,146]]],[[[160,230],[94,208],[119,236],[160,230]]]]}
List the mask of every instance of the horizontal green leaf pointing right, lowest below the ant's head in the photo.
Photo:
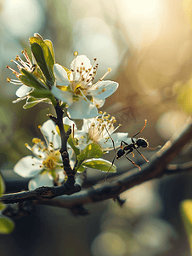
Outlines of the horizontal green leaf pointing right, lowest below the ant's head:
{"type": "MultiPolygon", "coordinates": [[[[84,160],[81,166],[100,170],[101,172],[116,172],[116,166],[111,166],[112,163],[104,159],[84,160]]],[[[78,170],[79,171],[79,170],[78,170]]]]}

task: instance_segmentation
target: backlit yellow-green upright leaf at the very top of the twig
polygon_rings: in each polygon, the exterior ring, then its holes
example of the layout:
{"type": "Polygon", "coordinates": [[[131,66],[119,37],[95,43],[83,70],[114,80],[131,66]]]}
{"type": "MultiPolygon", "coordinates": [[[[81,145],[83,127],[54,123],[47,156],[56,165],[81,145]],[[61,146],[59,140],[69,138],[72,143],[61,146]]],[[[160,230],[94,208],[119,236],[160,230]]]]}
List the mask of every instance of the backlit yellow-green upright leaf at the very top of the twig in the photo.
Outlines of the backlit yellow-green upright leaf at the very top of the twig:
{"type": "Polygon", "coordinates": [[[44,59],[50,71],[54,74],[54,47],[52,42],[50,40],[42,41],[40,38],[31,37],[30,44],[38,44],[41,46],[44,59]]]}

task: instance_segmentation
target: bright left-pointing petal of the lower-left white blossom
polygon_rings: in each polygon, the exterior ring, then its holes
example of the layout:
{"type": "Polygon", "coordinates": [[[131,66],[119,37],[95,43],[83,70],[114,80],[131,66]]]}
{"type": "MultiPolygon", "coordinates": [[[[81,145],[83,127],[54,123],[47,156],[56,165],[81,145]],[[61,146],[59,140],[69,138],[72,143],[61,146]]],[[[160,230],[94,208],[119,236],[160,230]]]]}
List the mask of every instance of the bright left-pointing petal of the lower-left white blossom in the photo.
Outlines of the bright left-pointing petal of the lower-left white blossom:
{"type": "Polygon", "coordinates": [[[41,172],[42,160],[38,160],[36,157],[31,155],[25,156],[14,166],[14,172],[22,177],[33,177],[41,172]]]}

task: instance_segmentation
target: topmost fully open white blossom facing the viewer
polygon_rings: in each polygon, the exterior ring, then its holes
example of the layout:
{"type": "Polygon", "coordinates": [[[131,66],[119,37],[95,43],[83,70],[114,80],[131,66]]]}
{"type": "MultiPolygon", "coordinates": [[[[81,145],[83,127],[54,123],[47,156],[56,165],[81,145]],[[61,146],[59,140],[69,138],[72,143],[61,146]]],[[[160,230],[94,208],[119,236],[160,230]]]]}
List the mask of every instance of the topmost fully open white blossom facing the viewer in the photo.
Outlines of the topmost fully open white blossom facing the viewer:
{"type": "Polygon", "coordinates": [[[93,65],[86,55],[75,54],[71,62],[71,71],[59,64],[54,64],[56,84],[52,87],[53,95],[67,104],[67,113],[71,119],[88,119],[99,115],[98,109],[104,105],[105,98],[113,94],[118,83],[107,80],[107,73],[93,84],[98,64],[93,65]]]}

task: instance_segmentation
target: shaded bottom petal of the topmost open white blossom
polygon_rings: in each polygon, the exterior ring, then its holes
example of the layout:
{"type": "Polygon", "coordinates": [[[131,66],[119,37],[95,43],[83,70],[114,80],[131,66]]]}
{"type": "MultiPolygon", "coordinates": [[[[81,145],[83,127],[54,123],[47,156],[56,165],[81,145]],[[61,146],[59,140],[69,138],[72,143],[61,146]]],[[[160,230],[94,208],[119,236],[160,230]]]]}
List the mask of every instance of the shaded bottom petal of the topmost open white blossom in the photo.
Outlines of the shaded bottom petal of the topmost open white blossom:
{"type": "Polygon", "coordinates": [[[67,113],[71,119],[89,119],[98,115],[98,109],[92,103],[79,100],[67,108],[67,113]]]}

